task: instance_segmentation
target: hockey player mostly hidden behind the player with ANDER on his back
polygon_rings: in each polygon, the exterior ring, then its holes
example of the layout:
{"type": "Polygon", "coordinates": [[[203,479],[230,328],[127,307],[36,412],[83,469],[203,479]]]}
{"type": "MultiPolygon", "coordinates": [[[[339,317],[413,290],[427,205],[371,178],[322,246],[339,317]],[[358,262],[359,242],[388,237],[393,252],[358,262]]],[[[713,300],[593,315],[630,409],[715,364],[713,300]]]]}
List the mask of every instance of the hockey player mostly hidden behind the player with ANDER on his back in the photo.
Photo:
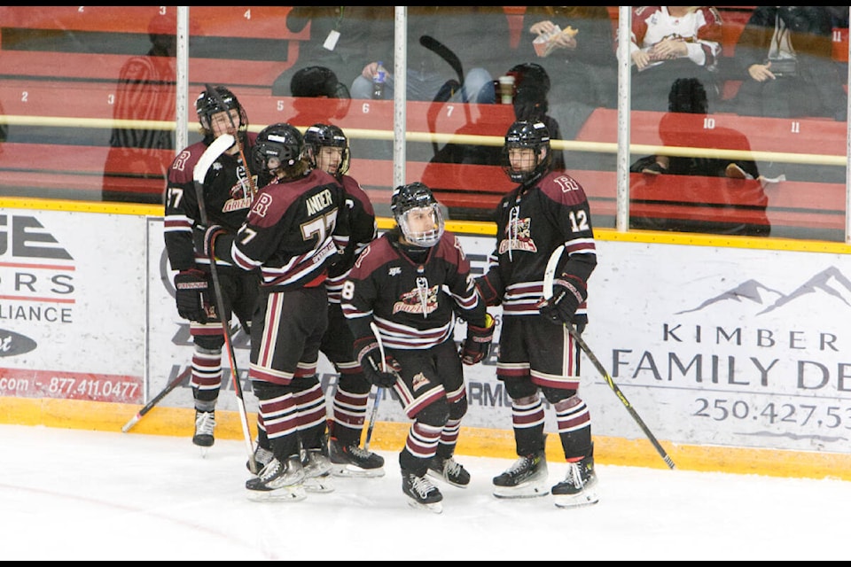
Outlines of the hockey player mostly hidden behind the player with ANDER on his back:
{"type": "Polygon", "coordinates": [[[355,338],[340,308],[340,291],[357,255],[377,235],[375,212],[359,183],[347,175],[348,139],[343,130],[330,124],[314,124],[304,133],[304,146],[313,167],[331,174],[346,191],[350,232],[343,258],[331,268],[328,291],[328,330],[320,352],[332,362],[340,377],[334,392],[332,417],[328,421],[328,456],[332,474],[340,477],[383,477],[384,457],[360,447],[363,418],[372,384],[355,360],[355,338]]]}

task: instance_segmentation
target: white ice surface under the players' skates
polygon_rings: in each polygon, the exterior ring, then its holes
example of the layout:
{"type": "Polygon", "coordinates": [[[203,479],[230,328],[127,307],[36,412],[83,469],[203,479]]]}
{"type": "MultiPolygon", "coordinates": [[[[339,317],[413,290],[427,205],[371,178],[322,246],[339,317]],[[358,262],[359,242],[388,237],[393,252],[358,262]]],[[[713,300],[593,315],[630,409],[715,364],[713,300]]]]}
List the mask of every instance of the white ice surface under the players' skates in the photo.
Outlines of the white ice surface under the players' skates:
{"type": "MultiPolygon", "coordinates": [[[[600,465],[596,506],[497,500],[511,461],[457,455],[467,489],[410,509],[383,478],[301,502],[246,498],[246,443],[0,425],[9,560],[844,560],[851,483],[600,465]]],[[[555,484],[565,465],[550,463],[555,484]]]]}

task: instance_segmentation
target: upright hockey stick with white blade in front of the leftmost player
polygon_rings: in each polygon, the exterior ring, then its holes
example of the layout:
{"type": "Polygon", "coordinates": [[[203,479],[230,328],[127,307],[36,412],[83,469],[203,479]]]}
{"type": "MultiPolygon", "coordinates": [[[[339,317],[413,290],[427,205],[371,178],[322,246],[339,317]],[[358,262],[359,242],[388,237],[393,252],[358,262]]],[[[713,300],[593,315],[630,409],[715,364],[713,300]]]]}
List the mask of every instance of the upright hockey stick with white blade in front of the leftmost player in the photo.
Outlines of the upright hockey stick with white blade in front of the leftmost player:
{"type": "MultiPolygon", "coordinates": [[[[215,160],[221,156],[224,151],[233,145],[235,139],[230,134],[223,134],[215,138],[212,144],[207,147],[207,150],[201,154],[198,163],[192,170],[192,180],[195,182],[195,193],[198,196],[198,208],[201,215],[201,222],[204,226],[209,227],[209,219],[207,217],[207,206],[204,204],[204,178],[207,177],[207,171],[213,166],[215,160]]],[[[222,287],[219,284],[219,274],[215,267],[215,252],[210,250],[210,276],[213,279],[213,292],[215,295],[215,304],[219,312],[219,319],[222,322],[222,332],[224,335],[225,346],[228,348],[228,359],[230,361],[230,380],[233,383],[233,391],[237,394],[237,405],[239,407],[239,421],[242,423],[243,436],[246,438],[246,448],[248,449],[248,467],[252,474],[257,474],[257,462],[254,461],[254,441],[251,439],[251,430],[248,428],[248,414],[246,413],[246,400],[242,394],[242,384],[239,383],[239,374],[237,369],[237,357],[233,352],[233,342],[230,338],[230,324],[225,320],[224,298],[222,295],[222,287]]]]}

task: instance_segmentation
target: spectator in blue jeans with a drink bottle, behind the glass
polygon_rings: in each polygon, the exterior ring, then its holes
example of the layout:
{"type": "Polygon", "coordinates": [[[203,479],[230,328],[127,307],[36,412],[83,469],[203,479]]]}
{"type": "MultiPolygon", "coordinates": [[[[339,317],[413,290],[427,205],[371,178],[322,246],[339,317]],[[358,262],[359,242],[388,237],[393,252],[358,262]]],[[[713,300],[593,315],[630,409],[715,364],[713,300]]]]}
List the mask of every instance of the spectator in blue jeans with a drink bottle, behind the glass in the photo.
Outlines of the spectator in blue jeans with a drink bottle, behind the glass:
{"type": "MultiPolygon", "coordinates": [[[[372,78],[378,74],[379,61],[388,72],[384,98],[394,97],[393,24],[392,17],[373,21],[370,45],[374,47],[371,56],[364,58],[370,63],[352,83],[352,98],[372,97],[372,78]]],[[[496,102],[494,77],[504,69],[505,54],[511,49],[502,6],[408,6],[407,38],[409,100],[432,101],[449,89],[449,100],[455,102],[496,102]],[[423,46],[424,36],[443,44],[460,69],[423,46]]]]}

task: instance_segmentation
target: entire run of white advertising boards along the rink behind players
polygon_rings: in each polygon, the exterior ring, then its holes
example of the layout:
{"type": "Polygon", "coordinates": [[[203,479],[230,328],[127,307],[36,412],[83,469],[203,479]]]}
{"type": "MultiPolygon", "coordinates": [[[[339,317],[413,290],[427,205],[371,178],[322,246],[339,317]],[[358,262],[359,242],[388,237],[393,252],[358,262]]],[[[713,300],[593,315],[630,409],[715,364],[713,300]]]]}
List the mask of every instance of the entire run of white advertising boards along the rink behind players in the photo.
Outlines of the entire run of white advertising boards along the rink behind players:
{"type": "MultiPolygon", "coordinates": [[[[117,381],[117,376],[144,384],[144,396],[130,400],[143,403],[190,364],[188,325],[176,315],[161,218],[30,210],[5,210],[0,216],[5,220],[0,225],[5,237],[0,246],[0,395],[27,395],[4,389],[10,377],[20,382],[20,372],[51,376],[61,369],[101,381],[117,381]],[[16,232],[12,217],[21,217],[21,226],[35,219],[42,227],[35,233],[49,233],[56,243],[51,245],[64,248],[72,260],[40,260],[53,268],[33,268],[35,260],[21,257],[21,250],[32,252],[32,245],[12,245],[15,234],[33,230],[16,232]],[[67,307],[58,301],[71,296],[72,323],[2,318],[4,309],[34,303],[9,299],[16,293],[16,273],[65,276],[69,266],[73,293],[45,294],[36,287],[33,294],[44,306],[57,308],[67,307]],[[35,350],[18,348],[29,344],[25,338],[37,343],[35,350]]],[[[474,271],[481,273],[494,239],[462,241],[474,271]]],[[[584,337],[658,439],[849,452],[847,255],[602,240],[597,252],[584,337]]],[[[498,320],[499,309],[492,312],[498,320]]],[[[457,339],[464,333],[459,326],[457,339]]],[[[243,377],[247,344],[243,333],[234,335],[243,377]]],[[[495,377],[495,356],[486,362],[465,367],[470,408],[464,424],[509,429],[510,402],[495,377]]],[[[223,364],[227,384],[219,408],[235,410],[226,355],[223,364]]],[[[334,377],[324,358],[320,372],[325,383],[334,377]]],[[[581,395],[594,434],[643,439],[643,431],[584,357],[582,377],[581,395]]],[[[255,411],[250,384],[243,384],[246,406],[255,411]]],[[[41,395],[66,397],[63,392],[41,395]]],[[[190,408],[191,391],[178,388],[160,405],[190,408]]],[[[551,413],[548,431],[555,431],[551,413]]],[[[389,398],[379,418],[408,421],[389,398]]]]}

